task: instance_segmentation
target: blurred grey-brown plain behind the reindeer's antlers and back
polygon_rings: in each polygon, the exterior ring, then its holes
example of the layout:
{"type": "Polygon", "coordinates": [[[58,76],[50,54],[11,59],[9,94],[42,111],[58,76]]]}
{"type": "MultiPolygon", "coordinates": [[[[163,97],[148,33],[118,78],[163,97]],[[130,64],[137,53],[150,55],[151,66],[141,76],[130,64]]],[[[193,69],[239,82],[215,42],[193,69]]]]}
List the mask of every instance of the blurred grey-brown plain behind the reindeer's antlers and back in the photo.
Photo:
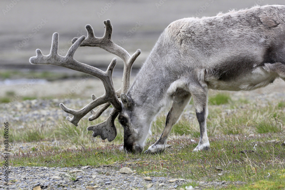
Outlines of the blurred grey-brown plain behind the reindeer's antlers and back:
{"type": "MultiPolygon", "coordinates": [[[[104,34],[103,21],[113,25],[113,42],[129,54],[137,49],[142,53],[133,66],[133,75],[141,67],[160,33],[172,21],[184,17],[215,16],[231,9],[254,5],[281,4],[282,0],[153,0],[153,1],[76,1],[76,0],[3,0],[0,1],[0,97],[1,102],[38,97],[64,97],[76,80],[83,80],[79,72],[46,65],[31,65],[29,58],[39,48],[49,54],[52,34],[59,33],[60,55],[65,55],[74,37],[87,36],[86,24],[91,24],[95,36],[104,34]],[[67,80],[68,79],[68,80],[67,80]],[[70,84],[71,83],[71,84],[70,84]],[[25,98],[26,97],[26,98],[25,98]],[[16,99],[15,99],[16,98],[16,99]]],[[[116,57],[100,48],[80,47],[75,53],[79,62],[103,70],[116,57]]],[[[119,59],[114,83],[120,86],[123,63],[119,59]],[[118,77],[118,82],[115,81],[118,77]]],[[[93,82],[72,93],[89,97],[94,92],[93,82]],[[84,91],[84,93],[82,93],[84,91]]],[[[76,86],[76,85],[75,85],[76,86]]],[[[101,86],[102,87],[102,86],[101,86]]],[[[79,88],[79,87],[78,87],[79,88]]],[[[97,91],[97,88],[96,88],[97,91]]],[[[101,92],[98,92],[99,95],[101,92]]]]}

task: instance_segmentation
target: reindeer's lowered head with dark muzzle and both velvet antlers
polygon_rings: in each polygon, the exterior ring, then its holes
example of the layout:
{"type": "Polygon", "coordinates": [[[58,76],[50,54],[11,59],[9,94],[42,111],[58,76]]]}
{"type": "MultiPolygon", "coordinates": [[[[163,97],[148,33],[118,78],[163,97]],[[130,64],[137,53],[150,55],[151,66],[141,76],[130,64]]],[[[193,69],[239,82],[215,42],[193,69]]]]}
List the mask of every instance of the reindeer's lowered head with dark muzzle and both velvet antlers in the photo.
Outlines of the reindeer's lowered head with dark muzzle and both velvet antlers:
{"type": "MultiPolygon", "coordinates": [[[[30,58],[31,64],[51,64],[56,66],[61,66],[65,68],[69,68],[72,70],[80,71],[83,73],[90,74],[99,78],[104,85],[105,94],[101,97],[97,98],[95,95],[92,95],[93,101],[91,101],[88,105],[80,110],[74,110],[67,108],[65,105],[60,103],[60,107],[66,113],[70,113],[73,115],[72,118],[67,117],[66,119],[70,121],[75,126],[78,126],[78,122],[82,117],[84,117],[87,113],[91,112],[92,116],[88,118],[89,121],[97,119],[110,105],[113,106],[113,110],[110,113],[107,120],[97,125],[92,125],[87,127],[87,130],[93,131],[92,136],[101,136],[103,140],[106,138],[109,142],[115,139],[117,136],[117,130],[114,125],[114,121],[116,117],[120,113],[119,121],[124,127],[124,142],[125,142],[125,150],[130,152],[142,152],[143,150],[143,142],[141,143],[140,133],[135,130],[134,127],[130,127],[135,125],[135,123],[130,124],[131,118],[123,117],[126,112],[130,112],[133,109],[131,99],[128,99],[125,93],[128,92],[130,87],[130,77],[133,63],[136,58],[141,54],[141,50],[137,50],[132,56],[117,44],[113,43],[111,36],[113,27],[111,25],[111,21],[104,21],[105,24],[105,34],[101,38],[97,38],[94,36],[93,28],[87,24],[86,30],[88,33],[87,38],[85,36],[81,36],[80,38],[74,38],[72,40],[73,45],[68,50],[66,56],[62,57],[58,55],[58,33],[54,33],[52,37],[52,47],[49,55],[43,55],[42,52],[37,49],[37,55],[30,58]],[[119,56],[124,62],[124,71],[123,71],[123,80],[122,86],[119,90],[115,91],[113,87],[112,74],[113,69],[117,63],[117,59],[114,58],[110,63],[108,69],[106,71],[102,71],[98,68],[89,66],[84,63],[80,63],[76,61],[73,56],[75,51],[79,46],[91,46],[91,47],[99,47],[107,52],[115,54],[119,56]],[[118,98],[122,99],[122,103],[118,98]],[[93,111],[94,108],[99,108],[96,111],[93,111]],[[138,145],[138,146],[137,146],[138,145]]],[[[130,116],[131,114],[129,114],[130,116]]],[[[135,115],[133,115],[135,116],[135,115]]],[[[137,116],[135,116],[137,117],[137,116]]],[[[145,138],[144,138],[145,139],[145,138]]]]}

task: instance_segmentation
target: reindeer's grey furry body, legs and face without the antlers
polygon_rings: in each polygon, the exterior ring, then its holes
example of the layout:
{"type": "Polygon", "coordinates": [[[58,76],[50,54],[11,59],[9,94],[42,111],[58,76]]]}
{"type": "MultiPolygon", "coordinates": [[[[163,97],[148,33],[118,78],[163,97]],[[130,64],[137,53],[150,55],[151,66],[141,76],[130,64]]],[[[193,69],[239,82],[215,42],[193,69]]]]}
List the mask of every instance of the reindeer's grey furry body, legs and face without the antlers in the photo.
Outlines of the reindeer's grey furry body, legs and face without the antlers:
{"type": "Polygon", "coordinates": [[[128,134],[124,147],[141,152],[151,122],[173,101],[161,137],[145,152],[163,151],[172,126],[193,97],[200,124],[194,151],[207,150],[208,89],[252,90],[279,77],[285,79],[285,6],[174,21],[162,32],[127,93],[132,106],[123,103],[119,119],[128,134]]]}

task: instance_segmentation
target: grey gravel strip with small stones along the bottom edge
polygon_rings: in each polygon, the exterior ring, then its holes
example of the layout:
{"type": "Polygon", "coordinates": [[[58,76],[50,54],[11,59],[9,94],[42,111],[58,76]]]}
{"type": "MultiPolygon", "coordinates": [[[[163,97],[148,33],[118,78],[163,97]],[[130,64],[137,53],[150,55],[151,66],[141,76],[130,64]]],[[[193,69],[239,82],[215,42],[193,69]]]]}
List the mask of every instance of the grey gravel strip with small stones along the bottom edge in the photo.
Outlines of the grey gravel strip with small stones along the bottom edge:
{"type": "MultiPolygon", "coordinates": [[[[94,168],[85,166],[74,167],[10,167],[9,178],[13,180],[9,187],[0,181],[3,189],[176,189],[183,183],[192,182],[188,179],[174,179],[170,177],[142,177],[136,173],[120,173],[112,169],[94,168]],[[75,175],[76,181],[67,175],[75,175]],[[38,187],[40,186],[40,188],[38,187]]],[[[3,171],[3,167],[1,167],[3,171]]],[[[2,172],[0,172],[2,175],[2,172]]],[[[203,189],[205,187],[225,187],[233,182],[227,181],[200,181],[199,187],[187,189],[203,189]]],[[[236,181],[241,185],[244,182],[236,181]]]]}

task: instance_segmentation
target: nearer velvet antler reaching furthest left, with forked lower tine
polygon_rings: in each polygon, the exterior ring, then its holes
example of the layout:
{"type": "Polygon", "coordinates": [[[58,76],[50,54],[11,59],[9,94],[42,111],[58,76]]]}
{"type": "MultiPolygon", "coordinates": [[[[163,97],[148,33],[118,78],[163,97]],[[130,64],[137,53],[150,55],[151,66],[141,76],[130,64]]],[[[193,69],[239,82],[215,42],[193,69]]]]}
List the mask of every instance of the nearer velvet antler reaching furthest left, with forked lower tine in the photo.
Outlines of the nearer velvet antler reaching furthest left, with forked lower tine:
{"type": "Polygon", "coordinates": [[[76,42],[70,47],[66,56],[62,57],[58,55],[57,53],[58,33],[54,33],[52,37],[52,47],[50,50],[50,54],[45,56],[41,53],[39,49],[37,49],[36,50],[37,56],[30,58],[31,64],[44,64],[44,65],[51,64],[55,66],[62,66],[65,68],[69,68],[72,70],[90,74],[92,76],[99,78],[103,82],[103,85],[105,88],[105,94],[93,100],[91,103],[86,105],[81,110],[69,109],[66,106],[64,106],[64,104],[60,103],[60,107],[65,112],[73,115],[72,118],[67,117],[66,119],[70,121],[71,123],[73,123],[75,126],[77,126],[79,120],[82,117],[84,117],[87,113],[89,113],[92,109],[104,103],[111,103],[117,111],[121,111],[122,109],[121,103],[116,96],[116,93],[113,87],[113,81],[112,81],[112,74],[113,74],[114,67],[117,63],[117,58],[114,58],[112,60],[108,69],[105,72],[98,68],[95,68],[95,67],[76,61],[73,58],[73,55],[84,39],[85,39],[85,36],[81,36],[80,38],[78,38],[78,40],[76,40],[76,42]]]}

